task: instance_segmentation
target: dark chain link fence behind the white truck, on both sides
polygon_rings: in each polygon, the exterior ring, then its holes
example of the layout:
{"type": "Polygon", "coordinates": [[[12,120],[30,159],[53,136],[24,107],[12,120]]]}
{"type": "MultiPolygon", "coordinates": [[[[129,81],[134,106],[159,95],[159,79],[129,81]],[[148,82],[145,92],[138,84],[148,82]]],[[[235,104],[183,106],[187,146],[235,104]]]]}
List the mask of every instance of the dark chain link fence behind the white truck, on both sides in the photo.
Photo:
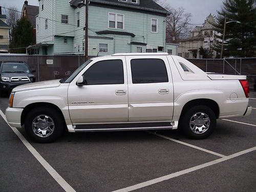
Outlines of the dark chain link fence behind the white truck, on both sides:
{"type": "MultiPolygon", "coordinates": [[[[205,72],[247,75],[250,82],[256,78],[256,58],[187,60],[205,72]]],[[[84,56],[0,55],[0,61],[24,61],[36,70],[36,81],[43,81],[68,77],[84,62],[84,56]]]]}

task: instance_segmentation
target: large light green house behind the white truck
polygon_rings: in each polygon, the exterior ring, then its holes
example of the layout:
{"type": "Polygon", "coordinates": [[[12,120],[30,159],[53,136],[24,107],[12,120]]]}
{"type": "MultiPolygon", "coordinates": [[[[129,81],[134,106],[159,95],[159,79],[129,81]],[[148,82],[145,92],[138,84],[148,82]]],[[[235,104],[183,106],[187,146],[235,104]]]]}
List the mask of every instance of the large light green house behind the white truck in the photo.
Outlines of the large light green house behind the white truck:
{"type": "MultiPolygon", "coordinates": [[[[38,0],[36,45],[41,55],[84,55],[84,0],[38,0]]],[[[171,52],[165,44],[168,12],[152,0],[90,0],[89,56],[171,52]]]]}

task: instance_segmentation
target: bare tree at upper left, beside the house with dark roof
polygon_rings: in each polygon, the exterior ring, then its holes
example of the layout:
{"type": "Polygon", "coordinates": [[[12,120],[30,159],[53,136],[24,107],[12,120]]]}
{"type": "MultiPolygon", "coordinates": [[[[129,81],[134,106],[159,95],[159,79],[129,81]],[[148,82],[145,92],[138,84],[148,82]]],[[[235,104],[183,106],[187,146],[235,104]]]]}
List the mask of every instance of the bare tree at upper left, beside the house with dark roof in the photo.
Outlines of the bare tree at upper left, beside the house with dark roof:
{"type": "Polygon", "coordinates": [[[11,34],[12,29],[17,23],[17,20],[20,18],[20,14],[16,7],[9,7],[8,9],[5,9],[5,14],[6,14],[7,25],[10,27],[9,34],[11,34]]]}

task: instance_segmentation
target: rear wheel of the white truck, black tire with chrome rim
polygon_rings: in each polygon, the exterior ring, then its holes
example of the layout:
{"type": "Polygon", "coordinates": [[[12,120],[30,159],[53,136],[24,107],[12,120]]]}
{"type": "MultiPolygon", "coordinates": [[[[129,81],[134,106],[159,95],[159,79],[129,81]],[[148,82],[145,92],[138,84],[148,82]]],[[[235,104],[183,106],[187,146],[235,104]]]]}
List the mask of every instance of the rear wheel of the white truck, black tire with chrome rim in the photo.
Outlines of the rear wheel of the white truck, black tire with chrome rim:
{"type": "Polygon", "coordinates": [[[208,108],[208,106],[204,106],[204,105],[193,106],[187,109],[182,114],[179,120],[179,128],[187,137],[191,139],[205,139],[211,135],[215,127],[216,127],[216,115],[214,111],[208,108]],[[195,119],[200,116],[202,117],[200,118],[201,121],[200,119],[196,121],[195,119]],[[191,120],[191,123],[190,123],[190,120],[191,120]],[[205,124],[202,124],[204,120],[206,122],[205,124]],[[195,122],[197,126],[193,125],[193,123],[195,122]],[[200,131],[199,127],[205,127],[205,128],[203,128],[204,130],[200,131]],[[207,127],[208,129],[206,129],[207,127]]]}

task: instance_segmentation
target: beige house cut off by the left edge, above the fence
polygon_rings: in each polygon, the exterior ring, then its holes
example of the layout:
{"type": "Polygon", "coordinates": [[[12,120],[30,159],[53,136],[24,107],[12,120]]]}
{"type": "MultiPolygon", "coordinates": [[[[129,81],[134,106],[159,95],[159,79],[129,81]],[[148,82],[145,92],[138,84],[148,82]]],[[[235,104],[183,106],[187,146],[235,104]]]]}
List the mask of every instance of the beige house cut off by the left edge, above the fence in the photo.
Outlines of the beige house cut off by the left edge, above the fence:
{"type": "Polygon", "coordinates": [[[6,15],[2,15],[2,7],[0,7],[0,53],[8,53],[9,29],[6,24],[6,15]]]}

